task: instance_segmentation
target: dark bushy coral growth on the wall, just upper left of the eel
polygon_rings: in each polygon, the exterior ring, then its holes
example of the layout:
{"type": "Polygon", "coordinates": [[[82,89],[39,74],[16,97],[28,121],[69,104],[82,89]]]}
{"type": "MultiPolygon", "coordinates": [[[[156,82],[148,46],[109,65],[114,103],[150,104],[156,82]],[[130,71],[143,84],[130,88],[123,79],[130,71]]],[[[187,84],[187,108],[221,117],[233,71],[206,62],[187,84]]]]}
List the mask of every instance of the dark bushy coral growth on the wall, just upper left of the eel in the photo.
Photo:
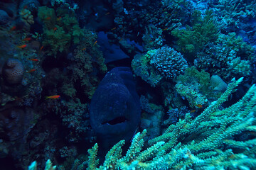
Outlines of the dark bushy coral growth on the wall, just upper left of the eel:
{"type": "Polygon", "coordinates": [[[81,44],[75,48],[74,54],[70,54],[68,58],[70,64],[67,69],[71,78],[65,79],[63,91],[72,97],[70,93],[73,91],[72,93],[75,94],[73,86],[80,81],[84,94],[88,98],[92,98],[97,85],[100,83],[98,76],[105,74],[107,67],[102,52],[96,45],[93,45],[97,35],[86,29],[83,32],[85,36],[80,38],[81,44]],[[68,86],[70,88],[67,89],[68,86]]]}

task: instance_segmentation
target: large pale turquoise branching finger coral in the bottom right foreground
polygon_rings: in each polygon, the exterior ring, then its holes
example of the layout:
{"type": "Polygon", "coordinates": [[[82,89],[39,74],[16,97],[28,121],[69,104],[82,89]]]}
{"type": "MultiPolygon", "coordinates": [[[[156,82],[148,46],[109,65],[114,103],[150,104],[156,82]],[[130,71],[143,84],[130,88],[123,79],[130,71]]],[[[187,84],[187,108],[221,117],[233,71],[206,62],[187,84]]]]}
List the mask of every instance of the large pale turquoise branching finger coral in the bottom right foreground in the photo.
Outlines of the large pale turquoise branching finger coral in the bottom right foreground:
{"type": "Polygon", "coordinates": [[[105,162],[97,168],[97,144],[89,149],[88,169],[229,169],[252,168],[256,164],[255,138],[235,140],[241,132],[255,132],[255,86],[229,108],[218,107],[240,84],[233,80],[225,93],[213,102],[194,120],[186,114],[185,120],[170,125],[163,135],[149,140],[145,145],[146,130],[137,133],[127,153],[122,156],[124,140],[114,145],[107,153],[105,162]],[[218,123],[217,123],[218,122],[218,123]],[[181,143],[182,141],[182,143],[181,143]],[[225,149],[220,149],[220,148],[225,149]],[[240,150],[236,150],[240,148],[240,150]]]}

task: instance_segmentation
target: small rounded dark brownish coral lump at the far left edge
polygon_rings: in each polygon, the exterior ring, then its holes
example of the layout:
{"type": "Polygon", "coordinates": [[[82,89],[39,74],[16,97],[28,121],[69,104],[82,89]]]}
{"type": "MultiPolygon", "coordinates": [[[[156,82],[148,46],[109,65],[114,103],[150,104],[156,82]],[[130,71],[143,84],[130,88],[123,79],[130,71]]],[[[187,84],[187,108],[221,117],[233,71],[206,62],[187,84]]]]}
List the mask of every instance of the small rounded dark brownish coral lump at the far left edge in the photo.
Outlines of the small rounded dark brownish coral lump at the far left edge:
{"type": "Polygon", "coordinates": [[[21,84],[24,74],[23,64],[17,59],[9,58],[9,60],[4,63],[2,74],[4,83],[10,85],[21,84]]]}

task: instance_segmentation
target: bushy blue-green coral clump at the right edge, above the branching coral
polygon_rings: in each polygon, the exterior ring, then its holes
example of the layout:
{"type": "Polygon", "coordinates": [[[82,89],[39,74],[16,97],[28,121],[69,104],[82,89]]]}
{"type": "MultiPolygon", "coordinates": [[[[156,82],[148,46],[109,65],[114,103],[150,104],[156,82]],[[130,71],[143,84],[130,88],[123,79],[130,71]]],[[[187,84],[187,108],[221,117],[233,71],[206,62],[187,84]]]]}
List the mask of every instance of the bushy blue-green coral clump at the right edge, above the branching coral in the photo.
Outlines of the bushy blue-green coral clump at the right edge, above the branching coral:
{"type": "Polygon", "coordinates": [[[249,76],[252,67],[250,61],[255,49],[233,33],[220,34],[216,42],[217,45],[208,43],[201,52],[198,52],[194,61],[195,66],[206,69],[210,74],[218,74],[225,80],[249,76]]]}

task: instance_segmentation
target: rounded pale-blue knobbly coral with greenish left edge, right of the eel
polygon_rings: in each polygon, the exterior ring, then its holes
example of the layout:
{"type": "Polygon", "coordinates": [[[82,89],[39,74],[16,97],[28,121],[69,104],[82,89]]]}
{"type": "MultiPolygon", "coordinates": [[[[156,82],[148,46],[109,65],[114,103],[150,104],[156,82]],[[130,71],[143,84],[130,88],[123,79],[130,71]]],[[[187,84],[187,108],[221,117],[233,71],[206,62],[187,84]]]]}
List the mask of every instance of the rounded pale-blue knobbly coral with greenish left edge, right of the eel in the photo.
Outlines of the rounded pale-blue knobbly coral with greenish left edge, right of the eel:
{"type": "Polygon", "coordinates": [[[146,55],[135,55],[132,69],[137,76],[151,86],[159,84],[161,79],[176,79],[188,67],[180,52],[171,47],[149,50],[146,55]]]}

